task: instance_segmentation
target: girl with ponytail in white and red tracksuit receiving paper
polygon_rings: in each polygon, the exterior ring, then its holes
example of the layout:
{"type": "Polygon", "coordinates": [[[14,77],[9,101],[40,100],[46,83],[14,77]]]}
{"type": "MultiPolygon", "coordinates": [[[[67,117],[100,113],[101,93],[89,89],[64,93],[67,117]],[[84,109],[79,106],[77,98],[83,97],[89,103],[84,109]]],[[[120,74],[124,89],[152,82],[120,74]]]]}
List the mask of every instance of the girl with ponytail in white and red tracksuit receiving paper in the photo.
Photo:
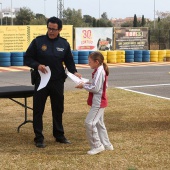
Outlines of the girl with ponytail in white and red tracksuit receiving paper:
{"type": "Polygon", "coordinates": [[[107,106],[107,77],[109,70],[100,52],[89,55],[89,66],[94,69],[91,83],[82,83],[76,88],[84,88],[89,92],[87,104],[91,106],[85,120],[86,134],[90,144],[90,155],[104,150],[113,150],[104,124],[104,110],[107,106]]]}

